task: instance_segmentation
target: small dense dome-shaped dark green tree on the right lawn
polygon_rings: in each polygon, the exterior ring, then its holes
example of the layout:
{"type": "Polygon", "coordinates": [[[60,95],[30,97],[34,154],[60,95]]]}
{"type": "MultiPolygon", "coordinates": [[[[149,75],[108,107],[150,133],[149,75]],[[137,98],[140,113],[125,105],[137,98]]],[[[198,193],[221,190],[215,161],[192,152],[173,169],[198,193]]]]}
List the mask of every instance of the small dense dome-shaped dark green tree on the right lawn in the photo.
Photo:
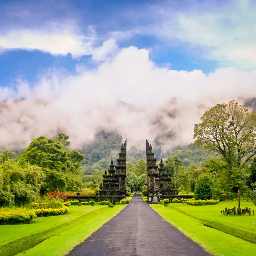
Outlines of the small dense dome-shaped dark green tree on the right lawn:
{"type": "Polygon", "coordinates": [[[196,180],[195,199],[210,199],[213,195],[214,181],[209,175],[202,173],[196,180]]]}

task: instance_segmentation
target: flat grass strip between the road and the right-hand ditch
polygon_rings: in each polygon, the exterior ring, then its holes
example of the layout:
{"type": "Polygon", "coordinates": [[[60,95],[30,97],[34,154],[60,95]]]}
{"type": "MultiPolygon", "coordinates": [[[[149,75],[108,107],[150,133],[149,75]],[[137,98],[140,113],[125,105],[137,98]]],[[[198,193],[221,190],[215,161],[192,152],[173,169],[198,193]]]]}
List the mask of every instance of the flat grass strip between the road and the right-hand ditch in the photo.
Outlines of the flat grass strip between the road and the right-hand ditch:
{"type": "MultiPolygon", "coordinates": [[[[211,205],[211,206],[216,206],[216,205],[211,205]]],[[[250,243],[239,237],[227,234],[215,228],[207,227],[202,223],[201,220],[188,216],[188,214],[184,214],[184,211],[183,212],[179,211],[179,209],[174,207],[172,204],[169,204],[168,206],[151,204],[151,207],[159,215],[161,215],[165,220],[167,220],[173,226],[178,228],[190,239],[200,244],[206,251],[214,255],[251,256],[251,255],[254,255],[256,251],[256,244],[250,243]]],[[[195,207],[206,207],[206,206],[190,206],[190,207],[195,208],[195,207]]],[[[227,217],[232,218],[233,216],[227,216],[227,217]]],[[[239,218],[240,216],[237,216],[237,217],[239,218]]],[[[248,216],[248,218],[254,218],[254,216],[248,216]]]]}

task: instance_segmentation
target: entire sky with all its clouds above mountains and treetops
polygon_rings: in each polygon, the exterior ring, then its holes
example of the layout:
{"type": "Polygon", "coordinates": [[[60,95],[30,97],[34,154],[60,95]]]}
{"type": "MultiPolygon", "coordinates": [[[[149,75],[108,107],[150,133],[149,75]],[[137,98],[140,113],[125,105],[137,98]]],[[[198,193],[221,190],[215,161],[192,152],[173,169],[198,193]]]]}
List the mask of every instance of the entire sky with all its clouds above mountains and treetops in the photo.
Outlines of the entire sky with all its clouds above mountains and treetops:
{"type": "Polygon", "coordinates": [[[255,13],[254,0],[0,1],[0,147],[61,131],[76,148],[101,129],[139,148],[193,142],[207,108],[256,97],[255,13]]]}

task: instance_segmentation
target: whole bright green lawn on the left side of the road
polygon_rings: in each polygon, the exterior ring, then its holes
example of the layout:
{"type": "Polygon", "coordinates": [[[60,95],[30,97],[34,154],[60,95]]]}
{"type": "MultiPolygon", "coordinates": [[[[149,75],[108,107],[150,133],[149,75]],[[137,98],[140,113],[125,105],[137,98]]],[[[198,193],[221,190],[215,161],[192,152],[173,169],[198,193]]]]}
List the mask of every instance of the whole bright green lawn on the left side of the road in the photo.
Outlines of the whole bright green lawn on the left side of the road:
{"type": "Polygon", "coordinates": [[[63,255],[124,207],[125,205],[117,205],[113,208],[106,205],[81,207],[74,205],[69,207],[67,215],[36,218],[33,224],[1,226],[0,255],[12,255],[11,253],[21,250],[27,250],[27,255],[63,255]],[[40,244],[28,250],[37,243],[40,244]],[[42,246],[45,243],[48,245],[42,246]]]}

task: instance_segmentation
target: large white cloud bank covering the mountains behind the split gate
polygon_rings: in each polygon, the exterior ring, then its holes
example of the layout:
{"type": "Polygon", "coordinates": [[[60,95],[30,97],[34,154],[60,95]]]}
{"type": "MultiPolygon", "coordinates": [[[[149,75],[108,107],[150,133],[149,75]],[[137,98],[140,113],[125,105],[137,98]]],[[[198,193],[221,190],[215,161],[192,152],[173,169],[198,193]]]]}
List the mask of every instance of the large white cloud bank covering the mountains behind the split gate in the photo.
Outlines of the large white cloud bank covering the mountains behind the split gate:
{"type": "Polygon", "coordinates": [[[208,75],[159,68],[147,50],[131,46],[95,70],[68,77],[53,71],[32,89],[23,82],[17,92],[0,87],[3,100],[26,97],[0,102],[0,146],[24,148],[37,136],[61,131],[78,147],[102,128],[120,132],[129,146],[144,148],[145,137],[153,142],[169,131],[175,137],[166,146],[187,144],[207,108],[256,96],[255,81],[255,72],[234,68],[208,75]]]}

